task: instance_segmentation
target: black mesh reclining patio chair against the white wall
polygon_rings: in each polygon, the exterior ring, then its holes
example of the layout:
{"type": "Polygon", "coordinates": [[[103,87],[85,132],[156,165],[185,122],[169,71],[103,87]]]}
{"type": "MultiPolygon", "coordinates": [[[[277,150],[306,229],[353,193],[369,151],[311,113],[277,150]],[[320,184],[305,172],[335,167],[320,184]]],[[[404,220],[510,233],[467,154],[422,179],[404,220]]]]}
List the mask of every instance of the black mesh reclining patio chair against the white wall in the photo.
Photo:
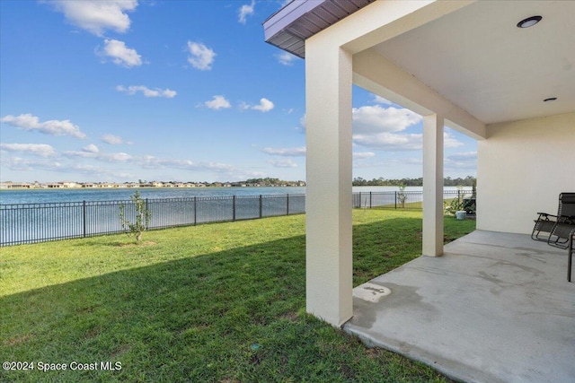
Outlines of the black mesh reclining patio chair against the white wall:
{"type": "Polygon", "coordinates": [[[568,234],[575,227],[575,193],[559,195],[557,215],[537,213],[531,238],[557,248],[567,248],[568,234]]]}

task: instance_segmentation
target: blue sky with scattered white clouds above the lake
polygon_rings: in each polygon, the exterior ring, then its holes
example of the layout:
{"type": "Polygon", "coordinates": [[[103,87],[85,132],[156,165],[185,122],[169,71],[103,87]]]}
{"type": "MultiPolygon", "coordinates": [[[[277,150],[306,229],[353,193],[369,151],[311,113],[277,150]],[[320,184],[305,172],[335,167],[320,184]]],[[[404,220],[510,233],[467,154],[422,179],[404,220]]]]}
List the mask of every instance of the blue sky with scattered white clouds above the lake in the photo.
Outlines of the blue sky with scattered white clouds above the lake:
{"type": "MultiPolygon", "coordinates": [[[[2,181],[305,179],[305,62],[285,1],[0,2],[2,181]]],[[[354,177],[421,177],[421,118],[353,91],[354,177]]],[[[445,174],[476,143],[446,129],[445,174]]]]}

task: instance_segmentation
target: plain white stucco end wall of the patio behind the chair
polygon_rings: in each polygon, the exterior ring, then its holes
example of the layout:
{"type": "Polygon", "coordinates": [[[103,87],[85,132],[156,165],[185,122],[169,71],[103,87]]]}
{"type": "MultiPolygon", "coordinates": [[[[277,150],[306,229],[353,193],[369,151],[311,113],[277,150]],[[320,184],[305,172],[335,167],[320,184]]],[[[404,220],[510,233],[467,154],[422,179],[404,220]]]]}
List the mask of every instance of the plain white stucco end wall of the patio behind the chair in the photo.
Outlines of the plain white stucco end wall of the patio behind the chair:
{"type": "Polygon", "coordinates": [[[494,124],[477,148],[477,229],[530,234],[575,192],[575,113],[494,124]]]}

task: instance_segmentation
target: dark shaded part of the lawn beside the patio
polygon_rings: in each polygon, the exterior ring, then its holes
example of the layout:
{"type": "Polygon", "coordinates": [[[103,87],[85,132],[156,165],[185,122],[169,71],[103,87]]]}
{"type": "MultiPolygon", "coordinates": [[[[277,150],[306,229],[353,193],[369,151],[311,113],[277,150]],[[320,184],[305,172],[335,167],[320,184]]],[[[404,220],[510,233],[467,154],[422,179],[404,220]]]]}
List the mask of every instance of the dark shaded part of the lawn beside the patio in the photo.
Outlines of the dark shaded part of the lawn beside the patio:
{"type": "MultiPolygon", "coordinates": [[[[355,226],[354,263],[395,265],[391,248],[418,224],[355,226]]],[[[6,381],[444,381],[305,315],[304,236],[4,296],[0,308],[4,361],[37,365],[6,381]],[[97,368],[40,372],[40,361],[97,368]]]]}

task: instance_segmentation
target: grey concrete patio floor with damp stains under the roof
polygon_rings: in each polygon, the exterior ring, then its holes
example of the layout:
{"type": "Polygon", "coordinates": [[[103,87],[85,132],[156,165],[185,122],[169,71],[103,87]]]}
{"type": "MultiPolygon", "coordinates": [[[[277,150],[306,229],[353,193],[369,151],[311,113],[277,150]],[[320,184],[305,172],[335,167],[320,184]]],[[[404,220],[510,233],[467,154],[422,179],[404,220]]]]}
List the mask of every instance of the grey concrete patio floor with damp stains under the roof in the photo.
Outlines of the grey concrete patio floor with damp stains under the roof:
{"type": "Polygon", "coordinates": [[[353,304],[345,331],[452,379],[575,382],[567,250],[528,235],[474,231],[358,286],[353,304]]]}

